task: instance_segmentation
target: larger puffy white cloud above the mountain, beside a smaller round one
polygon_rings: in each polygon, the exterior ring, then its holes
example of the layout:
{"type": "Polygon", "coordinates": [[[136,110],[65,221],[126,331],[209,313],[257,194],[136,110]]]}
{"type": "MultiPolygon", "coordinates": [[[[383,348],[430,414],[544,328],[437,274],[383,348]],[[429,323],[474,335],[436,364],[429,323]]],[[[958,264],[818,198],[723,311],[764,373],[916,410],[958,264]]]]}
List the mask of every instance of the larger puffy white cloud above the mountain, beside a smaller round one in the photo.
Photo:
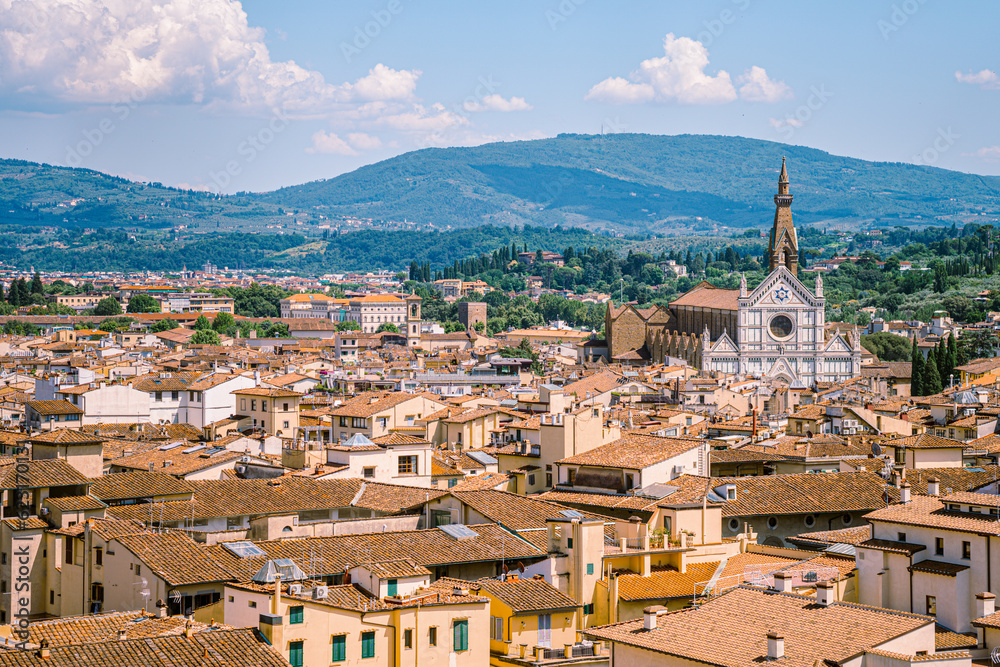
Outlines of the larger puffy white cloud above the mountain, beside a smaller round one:
{"type": "Polygon", "coordinates": [[[612,77],[601,81],[585,99],[612,104],[678,102],[680,104],[724,104],[736,99],[729,73],[706,74],[708,49],[690,37],[663,40],[664,56],[650,58],[629,74],[628,80],[612,77]]]}

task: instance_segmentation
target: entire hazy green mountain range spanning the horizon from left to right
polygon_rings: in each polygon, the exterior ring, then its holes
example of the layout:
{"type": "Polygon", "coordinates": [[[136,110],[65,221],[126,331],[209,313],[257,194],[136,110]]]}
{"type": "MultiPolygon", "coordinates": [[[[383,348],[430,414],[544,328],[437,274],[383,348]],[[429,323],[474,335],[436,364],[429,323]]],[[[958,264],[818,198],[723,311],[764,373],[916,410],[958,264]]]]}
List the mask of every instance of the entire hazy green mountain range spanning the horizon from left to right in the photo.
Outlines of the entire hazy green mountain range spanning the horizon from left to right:
{"type": "Polygon", "coordinates": [[[0,160],[0,224],[267,233],[287,221],[285,209],[296,209],[332,224],[346,216],[436,229],[528,224],[644,235],[678,226],[760,227],[770,222],[782,157],[798,223],[907,224],[1000,212],[1000,177],[741,137],[567,134],[428,148],[328,180],[222,197],[0,160]]]}

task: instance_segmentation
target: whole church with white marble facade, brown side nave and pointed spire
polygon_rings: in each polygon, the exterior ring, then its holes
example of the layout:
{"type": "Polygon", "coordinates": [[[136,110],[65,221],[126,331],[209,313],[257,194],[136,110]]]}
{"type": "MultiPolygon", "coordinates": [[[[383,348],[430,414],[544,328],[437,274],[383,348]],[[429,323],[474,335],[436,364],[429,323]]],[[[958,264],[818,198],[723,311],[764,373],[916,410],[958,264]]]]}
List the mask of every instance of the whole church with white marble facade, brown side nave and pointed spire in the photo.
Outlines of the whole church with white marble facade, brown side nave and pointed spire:
{"type": "Polygon", "coordinates": [[[815,292],[798,279],[798,238],[792,195],[782,160],[768,254],[770,272],[752,291],[707,281],[670,303],[608,307],[609,356],[623,363],[680,358],[703,371],[760,377],[774,385],[811,387],[861,373],[857,332],[826,331],[823,279],[815,292]]]}

